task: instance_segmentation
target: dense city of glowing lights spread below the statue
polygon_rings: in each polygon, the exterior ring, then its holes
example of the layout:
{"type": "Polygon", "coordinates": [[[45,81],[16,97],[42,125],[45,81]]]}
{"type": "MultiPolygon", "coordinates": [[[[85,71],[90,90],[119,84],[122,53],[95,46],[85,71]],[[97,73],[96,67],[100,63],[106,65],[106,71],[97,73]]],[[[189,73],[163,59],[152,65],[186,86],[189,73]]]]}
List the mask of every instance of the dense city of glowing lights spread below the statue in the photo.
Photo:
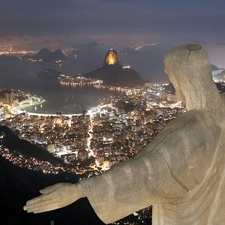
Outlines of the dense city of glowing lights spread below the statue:
{"type": "MultiPolygon", "coordinates": [[[[60,82],[65,85],[65,80],[60,82]]],[[[66,82],[74,87],[93,84],[96,88],[113,89],[90,79],[67,78],[66,82]]],[[[0,125],[61,158],[64,164],[24,157],[3,146],[0,154],[17,166],[43,173],[66,171],[79,174],[80,179],[103,173],[134,157],[168,122],[184,112],[184,103],[177,101],[167,87],[167,83],[146,83],[142,87],[117,88],[108,104],[71,115],[26,112],[28,105],[41,104],[44,99],[1,90],[0,125]]],[[[150,217],[150,210],[144,209],[135,216],[144,220],[150,217]]]]}

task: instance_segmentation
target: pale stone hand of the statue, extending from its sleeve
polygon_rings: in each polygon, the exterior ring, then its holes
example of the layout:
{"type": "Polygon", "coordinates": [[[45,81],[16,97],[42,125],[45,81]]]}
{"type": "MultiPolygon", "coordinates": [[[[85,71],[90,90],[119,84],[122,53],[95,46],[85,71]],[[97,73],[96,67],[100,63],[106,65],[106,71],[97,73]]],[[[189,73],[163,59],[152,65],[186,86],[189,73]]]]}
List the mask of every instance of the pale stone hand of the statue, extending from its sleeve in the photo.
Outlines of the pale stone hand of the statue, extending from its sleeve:
{"type": "Polygon", "coordinates": [[[81,184],[58,183],[40,190],[41,196],[26,202],[23,207],[28,213],[41,213],[67,206],[86,197],[81,184]]]}

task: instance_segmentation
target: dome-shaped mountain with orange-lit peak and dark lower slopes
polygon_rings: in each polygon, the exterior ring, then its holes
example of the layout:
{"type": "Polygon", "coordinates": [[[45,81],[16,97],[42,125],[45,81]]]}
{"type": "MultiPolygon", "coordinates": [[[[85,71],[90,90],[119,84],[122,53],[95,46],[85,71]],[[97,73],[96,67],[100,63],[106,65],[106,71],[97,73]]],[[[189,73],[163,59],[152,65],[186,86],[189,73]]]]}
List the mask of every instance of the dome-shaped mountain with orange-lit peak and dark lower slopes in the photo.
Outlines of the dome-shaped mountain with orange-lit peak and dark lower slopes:
{"type": "Polygon", "coordinates": [[[83,74],[85,77],[103,80],[104,84],[120,87],[135,87],[146,81],[130,66],[122,66],[119,55],[110,49],[103,61],[103,67],[83,74]]]}

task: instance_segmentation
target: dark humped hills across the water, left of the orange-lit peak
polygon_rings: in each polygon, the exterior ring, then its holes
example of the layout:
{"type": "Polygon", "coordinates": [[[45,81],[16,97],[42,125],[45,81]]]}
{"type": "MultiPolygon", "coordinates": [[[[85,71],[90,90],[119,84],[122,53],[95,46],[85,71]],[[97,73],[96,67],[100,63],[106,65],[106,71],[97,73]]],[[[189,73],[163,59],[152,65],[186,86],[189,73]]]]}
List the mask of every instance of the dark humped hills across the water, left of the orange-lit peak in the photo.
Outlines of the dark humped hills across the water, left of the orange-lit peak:
{"type": "Polygon", "coordinates": [[[50,52],[47,48],[41,49],[34,56],[25,55],[22,57],[24,60],[34,60],[39,62],[57,62],[59,60],[66,60],[66,56],[62,53],[61,50],[56,50],[54,52],[50,52]]]}

